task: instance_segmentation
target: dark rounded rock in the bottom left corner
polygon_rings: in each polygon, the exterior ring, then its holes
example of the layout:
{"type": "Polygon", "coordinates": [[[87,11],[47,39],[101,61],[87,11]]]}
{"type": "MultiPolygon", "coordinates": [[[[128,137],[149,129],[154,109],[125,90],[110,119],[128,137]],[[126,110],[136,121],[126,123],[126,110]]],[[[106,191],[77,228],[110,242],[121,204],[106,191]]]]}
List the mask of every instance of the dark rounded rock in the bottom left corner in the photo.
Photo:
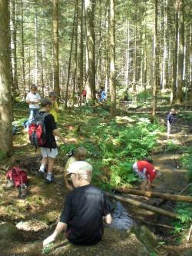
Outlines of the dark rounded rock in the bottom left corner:
{"type": "Polygon", "coordinates": [[[5,222],[0,224],[0,240],[18,241],[22,238],[14,224],[5,222]]]}

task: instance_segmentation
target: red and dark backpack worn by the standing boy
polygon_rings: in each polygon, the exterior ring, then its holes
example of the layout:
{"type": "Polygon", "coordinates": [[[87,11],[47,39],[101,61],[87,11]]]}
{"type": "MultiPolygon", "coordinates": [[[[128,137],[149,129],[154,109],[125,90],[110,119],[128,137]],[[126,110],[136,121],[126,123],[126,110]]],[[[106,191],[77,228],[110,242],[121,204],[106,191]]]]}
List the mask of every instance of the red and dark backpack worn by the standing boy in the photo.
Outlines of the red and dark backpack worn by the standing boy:
{"type": "Polygon", "coordinates": [[[46,143],[45,117],[48,115],[50,115],[48,112],[36,115],[35,120],[28,127],[29,140],[36,148],[46,143]]]}

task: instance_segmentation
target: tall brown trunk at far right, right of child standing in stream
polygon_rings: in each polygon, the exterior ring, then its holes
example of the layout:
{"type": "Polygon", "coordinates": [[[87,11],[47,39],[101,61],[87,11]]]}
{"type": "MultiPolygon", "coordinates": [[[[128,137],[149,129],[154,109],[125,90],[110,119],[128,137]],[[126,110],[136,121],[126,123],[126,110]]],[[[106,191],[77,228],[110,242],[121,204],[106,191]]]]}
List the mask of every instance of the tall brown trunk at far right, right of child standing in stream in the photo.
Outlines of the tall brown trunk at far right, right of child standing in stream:
{"type": "Polygon", "coordinates": [[[181,103],[183,100],[184,86],[184,0],[178,0],[179,12],[179,52],[178,52],[178,85],[177,85],[177,101],[181,103]]]}

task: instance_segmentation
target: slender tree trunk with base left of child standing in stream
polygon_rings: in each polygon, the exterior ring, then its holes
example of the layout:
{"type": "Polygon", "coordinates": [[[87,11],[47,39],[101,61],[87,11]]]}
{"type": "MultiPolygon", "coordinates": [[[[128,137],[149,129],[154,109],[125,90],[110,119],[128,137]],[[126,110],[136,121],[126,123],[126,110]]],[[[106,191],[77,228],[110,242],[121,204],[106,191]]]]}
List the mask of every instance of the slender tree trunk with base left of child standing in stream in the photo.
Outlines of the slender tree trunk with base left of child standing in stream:
{"type": "Polygon", "coordinates": [[[158,68],[159,63],[157,60],[157,17],[158,17],[158,1],[155,0],[154,2],[154,8],[155,8],[155,25],[154,25],[154,87],[153,87],[153,108],[152,108],[152,118],[154,118],[156,114],[156,108],[157,108],[157,88],[158,88],[158,68]]]}

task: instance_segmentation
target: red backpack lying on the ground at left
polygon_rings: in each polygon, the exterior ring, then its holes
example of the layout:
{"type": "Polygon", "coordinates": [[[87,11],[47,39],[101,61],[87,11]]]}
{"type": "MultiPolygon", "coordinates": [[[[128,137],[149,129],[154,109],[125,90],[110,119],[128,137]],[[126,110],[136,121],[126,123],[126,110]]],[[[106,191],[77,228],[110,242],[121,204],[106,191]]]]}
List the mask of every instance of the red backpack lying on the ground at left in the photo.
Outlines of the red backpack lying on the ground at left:
{"type": "Polygon", "coordinates": [[[26,174],[26,172],[23,171],[21,168],[15,166],[7,172],[6,177],[9,180],[14,181],[15,187],[26,185],[28,181],[28,175],[26,174]]]}

